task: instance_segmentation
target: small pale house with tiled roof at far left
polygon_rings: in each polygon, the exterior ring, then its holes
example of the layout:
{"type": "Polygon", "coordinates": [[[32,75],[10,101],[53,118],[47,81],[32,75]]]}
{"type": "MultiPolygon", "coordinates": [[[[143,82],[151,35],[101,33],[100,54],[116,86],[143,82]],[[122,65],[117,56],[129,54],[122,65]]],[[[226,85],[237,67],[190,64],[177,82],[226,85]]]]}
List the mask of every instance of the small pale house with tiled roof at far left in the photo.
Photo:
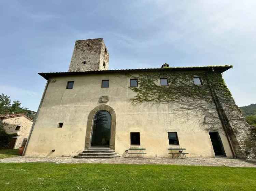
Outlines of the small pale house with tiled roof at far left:
{"type": "Polygon", "coordinates": [[[6,133],[16,133],[9,143],[10,149],[18,149],[22,145],[24,138],[28,138],[33,119],[26,114],[5,114],[0,115],[0,120],[4,123],[6,133]]]}

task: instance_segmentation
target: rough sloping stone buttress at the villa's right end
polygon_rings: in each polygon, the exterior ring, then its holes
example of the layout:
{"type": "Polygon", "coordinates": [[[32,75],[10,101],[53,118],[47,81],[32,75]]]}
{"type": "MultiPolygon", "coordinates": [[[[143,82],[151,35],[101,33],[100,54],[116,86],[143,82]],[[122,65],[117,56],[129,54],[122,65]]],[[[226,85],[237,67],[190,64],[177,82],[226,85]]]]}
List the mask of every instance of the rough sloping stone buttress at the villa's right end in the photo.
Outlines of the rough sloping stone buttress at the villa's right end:
{"type": "Polygon", "coordinates": [[[247,144],[248,139],[251,139],[250,125],[245,121],[241,110],[236,105],[222,75],[214,73],[211,76],[209,83],[212,87],[213,98],[224,130],[233,147],[234,155],[236,158],[250,158],[250,152],[246,152],[248,149],[251,150],[247,144]]]}

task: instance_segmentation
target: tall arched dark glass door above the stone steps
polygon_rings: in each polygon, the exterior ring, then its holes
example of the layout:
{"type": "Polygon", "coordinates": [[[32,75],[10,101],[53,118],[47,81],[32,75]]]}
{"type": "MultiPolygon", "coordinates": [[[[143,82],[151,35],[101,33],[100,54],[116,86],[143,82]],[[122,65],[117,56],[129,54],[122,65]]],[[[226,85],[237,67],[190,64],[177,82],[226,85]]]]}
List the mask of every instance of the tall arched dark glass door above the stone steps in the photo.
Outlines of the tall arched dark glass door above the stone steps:
{"type": "Polygon", "coordinates": [[[91,146],[109,147],[111,130],[111,115],[108,111],[100,110],[94,116],[91,146]]]}

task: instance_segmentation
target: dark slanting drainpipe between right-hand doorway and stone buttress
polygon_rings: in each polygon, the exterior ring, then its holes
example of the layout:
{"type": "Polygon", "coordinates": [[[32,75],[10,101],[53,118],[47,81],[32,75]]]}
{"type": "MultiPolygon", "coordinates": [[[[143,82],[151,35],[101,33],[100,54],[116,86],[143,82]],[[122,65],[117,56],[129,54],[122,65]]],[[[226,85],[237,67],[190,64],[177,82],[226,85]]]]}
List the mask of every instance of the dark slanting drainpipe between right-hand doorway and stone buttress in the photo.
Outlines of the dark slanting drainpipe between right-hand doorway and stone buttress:
{"type": "Polygon", "coordinates": [[[234,152],[234,147],[233,147],[233,145],[231,143],[230,137],[229,137],[228,132],[227,132],[226,124],[224,123],[224,117],[222,116],[222,112],[219,110],[219,107],[218,107],[218,104],[220,104],[220,103],[219,103],[217,94],[216,94],[215,90],[212,88],[212,85],[209,82],[207,75],[206,75],[206,81],[207,81],[207,83],[209,85],[209,89],[210,89],[210,92],[211,92],[211,95],[212,95],[212,98],[213,98],[213,102],[214,102],[216,110],[218,112],[219,119],[221,120],[222,127],[223,127],[223,129],[225,131],[225,134],[226,134],[227,138],[228,138],[228,144],[229,144],[230,149],[232,151],[233,158],[237,158],[236,157],[236,153],[234,152]]]}

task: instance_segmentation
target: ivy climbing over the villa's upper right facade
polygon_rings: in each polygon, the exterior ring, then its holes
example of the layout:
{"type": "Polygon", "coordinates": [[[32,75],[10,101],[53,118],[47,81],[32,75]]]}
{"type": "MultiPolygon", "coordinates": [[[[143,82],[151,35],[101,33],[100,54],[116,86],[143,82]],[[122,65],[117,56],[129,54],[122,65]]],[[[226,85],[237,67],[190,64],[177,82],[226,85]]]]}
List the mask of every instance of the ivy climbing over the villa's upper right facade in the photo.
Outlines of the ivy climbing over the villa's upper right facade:
{"type": "Polygon", "coordinates": [[[136,92],[131,98],[132,104],[144,102],[154,104],[173,104],[171,107],[175,117],[186,117],[194,120],[195,115],[202,116],[199,124],[207,131],[217,131],[221,127],[212,89],[221,91],[223,96],[231,96],[221,73],[210,71],[165,71],[142,73],[139,76],[126,74],[130,78],[138,78],[138,87],[130,87],[136,92]],[[202,85],[195,85],[193,77],[200,76],[202,85]],[[160,78],[167,78],[169,86],[160,86],[160,78]],[[184,116],[186,115],[186,116],[184,116]]]}

